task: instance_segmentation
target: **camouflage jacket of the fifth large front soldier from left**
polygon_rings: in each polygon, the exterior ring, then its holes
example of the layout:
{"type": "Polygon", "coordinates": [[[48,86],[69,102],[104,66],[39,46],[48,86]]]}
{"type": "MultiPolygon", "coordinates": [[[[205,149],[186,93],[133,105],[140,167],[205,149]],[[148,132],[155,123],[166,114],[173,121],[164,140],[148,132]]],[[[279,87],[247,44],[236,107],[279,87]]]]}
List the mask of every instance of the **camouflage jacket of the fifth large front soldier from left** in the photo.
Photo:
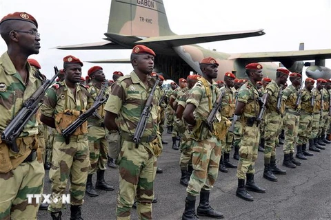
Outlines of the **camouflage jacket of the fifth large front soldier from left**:
{"type": "Polygon", "coordinates": [[[259,98],[259,91],[257,91],[257,87],[255,87],[250,80],[241,86],[238,92],[238,102],[245,103],[245,107],[243,109],[243,118],[245,120],[247,118],[259,116],[260,105],[257,100],[259,98]]]}

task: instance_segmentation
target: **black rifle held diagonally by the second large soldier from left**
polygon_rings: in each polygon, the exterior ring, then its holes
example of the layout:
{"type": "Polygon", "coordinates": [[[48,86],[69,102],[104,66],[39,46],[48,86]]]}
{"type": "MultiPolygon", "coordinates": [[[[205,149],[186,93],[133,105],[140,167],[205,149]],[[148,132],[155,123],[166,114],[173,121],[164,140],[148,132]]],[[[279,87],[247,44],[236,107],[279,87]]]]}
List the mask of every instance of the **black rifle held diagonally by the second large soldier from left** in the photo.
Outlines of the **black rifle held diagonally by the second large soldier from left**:
{"type": "Polygon", "coordinates": [[[66,144],[70,143],[70,135],[72,135],[72,133],[74,133],[74,131],[76,131],[76,129],[78,129],[79,126],[81,126],[81,124],[86,122],[86,120],[88,120],[90,116],[94,115],[95,111],[97,111],[99,106],[101,106],[101,104],[106,102],[106,100],[107,98],[100,96],[99,99],[94,101],[90,109],[79,115],[79,117],[76,120],[74,120],[72,124],[70,124],[66,129],[62,131],[61,135],[63,135],[63,137],[66,139],[66,144]]]}

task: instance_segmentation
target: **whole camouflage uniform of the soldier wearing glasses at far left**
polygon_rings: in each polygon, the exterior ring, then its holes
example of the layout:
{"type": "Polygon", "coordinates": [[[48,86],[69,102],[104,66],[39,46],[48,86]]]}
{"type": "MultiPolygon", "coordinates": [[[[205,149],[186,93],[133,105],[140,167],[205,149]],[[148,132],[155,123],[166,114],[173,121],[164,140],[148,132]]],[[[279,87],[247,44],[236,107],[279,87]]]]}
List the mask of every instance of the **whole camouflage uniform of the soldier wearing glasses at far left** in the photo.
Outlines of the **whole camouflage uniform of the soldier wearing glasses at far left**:
{"type": "MultiPolygon", "coordinates": [[[[6,129],[13,115],[22,108],[23,102],[41,86],[41,80],[34,77],[30,65],[27,81],[23,83],[8,53],[0,58],[0,133],[6,129]]],[[[17,138],[19,153],[9,150],[0,140],[0,219],[36,219],[39,205],[32,200],[28,204],[26,194],[43,192],[45,170],[38,148],[38,123],[32,115],[22,133],[17,138]],[[25,162],[32,150],[37,151],[37,159],[25,162]]]]}

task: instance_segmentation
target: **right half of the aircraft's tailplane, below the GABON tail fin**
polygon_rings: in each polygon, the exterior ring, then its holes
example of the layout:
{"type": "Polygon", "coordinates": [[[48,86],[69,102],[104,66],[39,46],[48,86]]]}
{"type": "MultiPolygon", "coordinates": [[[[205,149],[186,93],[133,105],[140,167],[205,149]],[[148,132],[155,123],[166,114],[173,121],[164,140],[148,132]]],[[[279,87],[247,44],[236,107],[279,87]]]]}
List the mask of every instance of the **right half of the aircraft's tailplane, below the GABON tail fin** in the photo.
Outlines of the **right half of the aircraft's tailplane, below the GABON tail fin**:
{"type": "Polygon", "coordinates": [[[248,30],[239,32],[219,32],[210,34],[187,34],[187,35],[171,35],[171,36],[155,36],[136,41],[136,44],[157,43],[158,45],[166,45],[170,47],[178,47],[181,45],[192,45],[197,43],[207,43],[212,41],[225,41],[231,39],[241,39],[250,36],[261,36],[265,34],[263,29],[248,30]]]}

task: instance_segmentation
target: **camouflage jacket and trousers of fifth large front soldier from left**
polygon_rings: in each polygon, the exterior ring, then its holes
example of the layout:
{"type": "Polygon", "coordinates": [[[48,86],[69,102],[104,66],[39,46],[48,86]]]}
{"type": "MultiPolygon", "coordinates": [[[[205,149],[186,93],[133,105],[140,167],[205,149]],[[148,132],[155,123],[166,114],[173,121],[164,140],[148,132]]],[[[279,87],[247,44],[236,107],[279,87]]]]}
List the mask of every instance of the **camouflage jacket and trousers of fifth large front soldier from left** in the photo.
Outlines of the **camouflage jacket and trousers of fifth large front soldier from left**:
{"type": "Polygon", "coordinates": [[[239,148],[239,163],[237,169],[237,177],[239,179],[245,179],[246,173],[255,173],[254,165],[257,161],[257,148],[259,146],[260,133],[259,126],[255,121],[252,126],[248,126],[246,123],[249,119],[257,118],[259,113],[259,91],[250,82],[245,83],[238,92],[238,101],[245,103],[243,115],[241,115],[242,124],[242,138],[239,148]]]}

